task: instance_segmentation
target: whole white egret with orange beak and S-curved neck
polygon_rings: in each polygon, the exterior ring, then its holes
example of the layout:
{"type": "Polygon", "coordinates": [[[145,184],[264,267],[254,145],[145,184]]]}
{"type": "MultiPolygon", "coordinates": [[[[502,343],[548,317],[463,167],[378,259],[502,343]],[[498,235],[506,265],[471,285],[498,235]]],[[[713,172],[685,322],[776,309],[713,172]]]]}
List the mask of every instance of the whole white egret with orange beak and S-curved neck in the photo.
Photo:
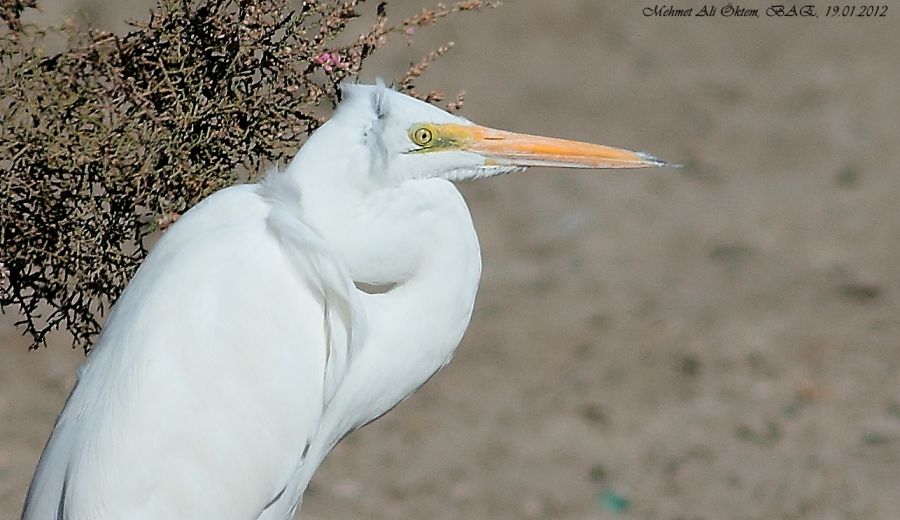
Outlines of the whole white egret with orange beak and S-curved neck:
{"type": "Polygon", "coordinates": [[[24,519],[290,518],[329,450],[466,330],[481,257],[450,181],[664,164],[383,85],[343,97],[284,172],[213,194],[156,244],[79,369],[24,519]]]}

